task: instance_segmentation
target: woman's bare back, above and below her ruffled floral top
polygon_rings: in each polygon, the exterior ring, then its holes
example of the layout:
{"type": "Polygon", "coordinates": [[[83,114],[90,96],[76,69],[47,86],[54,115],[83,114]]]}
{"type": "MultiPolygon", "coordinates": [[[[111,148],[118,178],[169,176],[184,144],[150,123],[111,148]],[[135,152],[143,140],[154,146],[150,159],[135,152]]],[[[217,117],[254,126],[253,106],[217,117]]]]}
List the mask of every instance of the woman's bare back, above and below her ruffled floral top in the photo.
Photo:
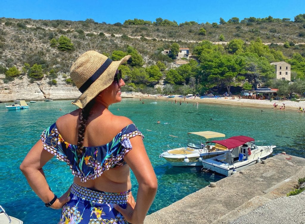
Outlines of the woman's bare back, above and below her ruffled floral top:
{"type": "MultiPolygon", "coordinates": [[[[92,110],[98,110],[92,108],[92,110]]],[[[78,114],[80,110],[74,110],[70,114],[59,117],[56,126],[62,138],[77,145],[78,114]]],[[[105,145],[132,121],[127,117],[115,116],[109,110],[95,111],[88,117],[88,123],[84,134],[83,146],[105,145]]],[[[81,182],[79,177],[74,177],[74,182],[82,187],[88,187],[106,192],[124,192],[131,188],[130,168],[127,164],[104,171],[94,180],[81,182]]]]}

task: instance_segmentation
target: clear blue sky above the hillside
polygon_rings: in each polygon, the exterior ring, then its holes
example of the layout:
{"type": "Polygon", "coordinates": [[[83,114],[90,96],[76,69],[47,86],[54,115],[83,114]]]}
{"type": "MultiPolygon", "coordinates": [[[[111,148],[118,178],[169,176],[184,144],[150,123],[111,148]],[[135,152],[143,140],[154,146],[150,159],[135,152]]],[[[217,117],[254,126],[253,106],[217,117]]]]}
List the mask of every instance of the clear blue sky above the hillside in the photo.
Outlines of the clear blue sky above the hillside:
{"type": "Polygon", "coordinates": [[[16,19],[94,19],[102,23],[124,23],[127,19],[144,19],[152,22],[156,18],[199,23],[225,21],[232,17],[240,20],[250,16],[256,18],[290,18],[305,13],[304,0],[2,0],[0,17],[16,19]]]}

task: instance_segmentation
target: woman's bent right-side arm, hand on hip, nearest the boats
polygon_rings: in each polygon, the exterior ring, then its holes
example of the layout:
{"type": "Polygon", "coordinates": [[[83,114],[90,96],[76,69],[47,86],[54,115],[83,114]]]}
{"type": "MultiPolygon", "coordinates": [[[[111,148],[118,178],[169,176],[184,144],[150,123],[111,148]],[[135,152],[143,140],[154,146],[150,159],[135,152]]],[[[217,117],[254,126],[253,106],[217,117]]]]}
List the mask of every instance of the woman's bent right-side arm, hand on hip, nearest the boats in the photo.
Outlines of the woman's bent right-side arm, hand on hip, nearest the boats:
{"type": "Polygon", "coordinates": [[[135,208],[122,209],[115,206],[125,219],[131,223],[144,223],[145,216],[149,210],[157,191],[157,178],[147,156],[142,137],[135,136],[130,139],[132,149],[124,156],[124,160],[134,172],[138,180],[139,189],[135,208]]]}

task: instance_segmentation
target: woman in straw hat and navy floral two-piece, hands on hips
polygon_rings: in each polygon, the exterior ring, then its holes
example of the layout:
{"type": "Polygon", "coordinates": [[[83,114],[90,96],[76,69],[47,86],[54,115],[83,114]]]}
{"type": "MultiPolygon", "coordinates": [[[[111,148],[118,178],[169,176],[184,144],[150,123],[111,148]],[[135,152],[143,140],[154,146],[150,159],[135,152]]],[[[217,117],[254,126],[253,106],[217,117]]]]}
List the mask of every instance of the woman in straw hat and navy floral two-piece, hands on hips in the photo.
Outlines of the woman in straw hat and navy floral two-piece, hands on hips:
{"type": "Polygon", "coordinates": [[[157,190],[156,175],[143,135],[127,117],[115,116],[125,85],[119,65],[96,51],[82,54],[70,69],[81,96],[80,107],[59,117],[41,134],[20,169],[47,207],[62,208],[59,223],[143,223],[157,190]],[[42,167],[53,156],[65,161],[73,184],[61,197],[51,191],[42,167]],[[138,180],[137,203],[131,194],[130,168],[138,180]]]}

